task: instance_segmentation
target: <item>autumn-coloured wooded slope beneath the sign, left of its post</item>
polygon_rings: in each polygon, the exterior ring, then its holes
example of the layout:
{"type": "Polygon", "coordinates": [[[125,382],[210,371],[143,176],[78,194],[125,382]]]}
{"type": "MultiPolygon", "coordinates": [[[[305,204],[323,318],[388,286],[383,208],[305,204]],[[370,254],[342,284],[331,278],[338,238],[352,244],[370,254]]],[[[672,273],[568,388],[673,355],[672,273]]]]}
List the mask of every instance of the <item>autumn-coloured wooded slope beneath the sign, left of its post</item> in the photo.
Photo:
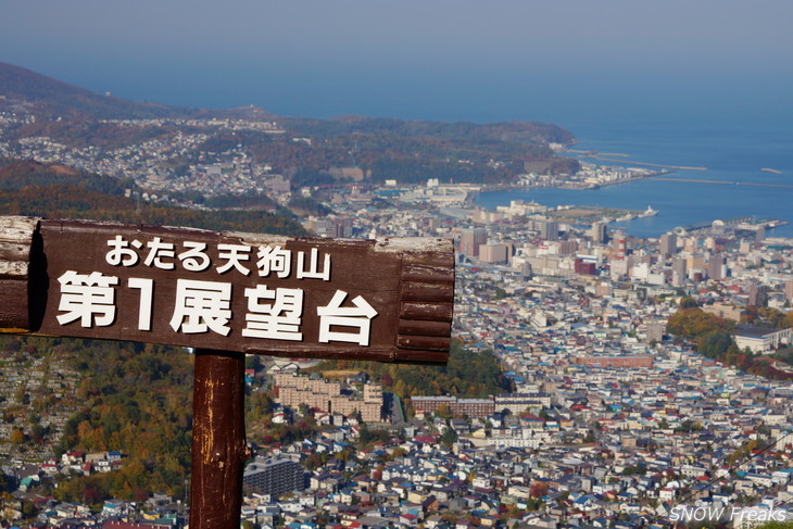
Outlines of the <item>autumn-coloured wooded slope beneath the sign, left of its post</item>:
{"type": "MultiPolygon", "coordinates": [[[[182,348],[142,343],[0,337],[2,357],[13,351],[56,356],[80,380],[74,394],[62,398],[46,388],[26,388],[18,405],[5,406],[7,420],[26,416],[32,405],[39,418],[76,408],[54,445],[54,455],[75,450],[123,455],[119,470],[63,480],[50,493],[61,501],[91,505],[109,497],[146,500],[152,492],[182,496],[192,429],[190,354],[182,348]],[[45,407],[37,408],[38,401],[45,407]]],[[[18,444],[50,443],[54,434],[45,429],[36,439],[27,426],[18,431],[24,436],[18,444]]]]}

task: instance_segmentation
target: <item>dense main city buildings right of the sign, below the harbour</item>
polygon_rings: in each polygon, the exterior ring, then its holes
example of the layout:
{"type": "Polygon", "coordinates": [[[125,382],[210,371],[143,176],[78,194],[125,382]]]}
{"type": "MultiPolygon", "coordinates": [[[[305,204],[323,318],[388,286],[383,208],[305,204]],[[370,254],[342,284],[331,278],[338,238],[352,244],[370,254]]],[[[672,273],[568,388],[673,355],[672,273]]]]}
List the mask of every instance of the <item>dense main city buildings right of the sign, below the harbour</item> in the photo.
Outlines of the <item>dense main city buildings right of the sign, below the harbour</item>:
{"type": "MultiPolygon", "coordinates": [[[[735,320],[764,307],[784,313],[790,241],[743,223],[642,240],[514,206],[539,216],[477,225],[487,214],[358,209],[347,222],[360,235],[455,237],[454,333],[469,350],[492,351],[515,393],[415,395],[410,434],[376,451],[388,454],[379,454],[376,488],[372,476],[351,475],[373,457],[356,451],[353,464],[328,459],[350,476],[331,479],[339,493],[330,501],[306,487],[303,500],[259,500],[252,514],[277,507],[301,527],[329,517],[364,527],[629,528],[670,526],[681,505],[791,500],[793,386],[704,358],[665,330],[684,295],[735,320]],[[451,445],[440,441],[449,429],[451,445]]],[[[739,327],[733,339],[766,354],[790,333],[739,327]],[[763,344],[744,341],[752,336],[763,344]]],[[[345,446],[327,443],[323,453],[335,450],[345,446]]]]}

